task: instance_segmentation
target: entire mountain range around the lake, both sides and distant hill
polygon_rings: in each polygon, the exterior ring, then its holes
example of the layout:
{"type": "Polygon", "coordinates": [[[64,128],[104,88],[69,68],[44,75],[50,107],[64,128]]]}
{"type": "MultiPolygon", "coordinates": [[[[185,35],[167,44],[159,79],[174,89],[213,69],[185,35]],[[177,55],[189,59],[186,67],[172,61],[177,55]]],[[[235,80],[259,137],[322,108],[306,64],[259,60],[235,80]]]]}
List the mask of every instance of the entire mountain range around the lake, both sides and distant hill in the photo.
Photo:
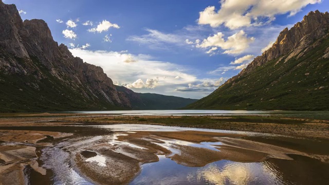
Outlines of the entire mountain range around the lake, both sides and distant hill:
{"type": "Polygon", "coordinates": [[[43,20],[0,0],[0,112],[118,109],[329,110],[329,13],[309,12],[209,96],[187,99],[116,86],[74,57],[43,20]]]}

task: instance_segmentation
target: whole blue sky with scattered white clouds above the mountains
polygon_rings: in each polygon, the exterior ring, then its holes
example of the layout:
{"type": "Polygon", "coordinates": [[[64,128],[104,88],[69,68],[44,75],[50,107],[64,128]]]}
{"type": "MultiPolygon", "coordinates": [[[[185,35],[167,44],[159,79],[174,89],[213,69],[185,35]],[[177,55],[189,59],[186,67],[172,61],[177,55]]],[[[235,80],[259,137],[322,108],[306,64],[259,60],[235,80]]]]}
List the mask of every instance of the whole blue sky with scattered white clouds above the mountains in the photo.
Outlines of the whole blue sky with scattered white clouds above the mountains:
{"type": "MultiPolygon", "coordinates": [[[[4,0],[138,93],[203,98],[329,0],[4,0]]],[[[265,75],[265,74],[264,74],[265,75]]]]}

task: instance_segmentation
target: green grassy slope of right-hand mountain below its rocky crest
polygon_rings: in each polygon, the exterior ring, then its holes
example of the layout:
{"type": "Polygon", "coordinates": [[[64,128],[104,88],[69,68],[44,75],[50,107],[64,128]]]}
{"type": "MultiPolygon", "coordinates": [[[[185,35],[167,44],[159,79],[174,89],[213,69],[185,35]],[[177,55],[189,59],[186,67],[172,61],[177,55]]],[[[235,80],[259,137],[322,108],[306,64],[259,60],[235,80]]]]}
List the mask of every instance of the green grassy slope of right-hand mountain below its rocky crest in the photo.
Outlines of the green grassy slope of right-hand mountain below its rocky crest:
{"type": "Polygon", "coordinates": [[[324,33],[298,53],[292,48],[242,71],[187,108],[329,110],[329,31],[324,33]]]}

